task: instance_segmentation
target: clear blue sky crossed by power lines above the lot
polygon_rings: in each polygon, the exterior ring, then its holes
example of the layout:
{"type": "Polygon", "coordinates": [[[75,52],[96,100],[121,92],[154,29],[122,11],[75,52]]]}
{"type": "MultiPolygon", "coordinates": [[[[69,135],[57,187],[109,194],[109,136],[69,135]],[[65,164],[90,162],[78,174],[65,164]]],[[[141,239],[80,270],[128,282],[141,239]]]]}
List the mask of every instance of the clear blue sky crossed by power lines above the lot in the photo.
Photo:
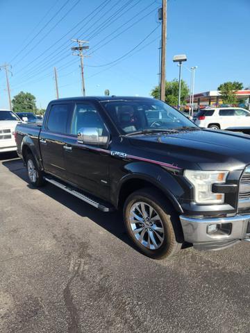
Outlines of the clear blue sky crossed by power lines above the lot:
{"type": "MultiPolygon", "coordinates": [[[[0,65],[12,65],[12,96],[31,92],[38,108],[45,108],[56,97],[54,66],[60,97],[80,96],[79,58],[72,56],[71,38],[90,42],[88,95],[110,89],[115,95],[149,96],[158,84],[160,6],[160,0],[0,0],[0,65]]],[[[217,89],[227,80],[250,86],[249,17],[250,0],[169,0],[167,80],[178,77],[172,57],[185,53],[185,65],[198,66],[195,92],[217,89]]],[[[183,78],[190,83],[187,69],[183,78]]],[[[8,108],[3,71],[0,108],[8,108]]]]}

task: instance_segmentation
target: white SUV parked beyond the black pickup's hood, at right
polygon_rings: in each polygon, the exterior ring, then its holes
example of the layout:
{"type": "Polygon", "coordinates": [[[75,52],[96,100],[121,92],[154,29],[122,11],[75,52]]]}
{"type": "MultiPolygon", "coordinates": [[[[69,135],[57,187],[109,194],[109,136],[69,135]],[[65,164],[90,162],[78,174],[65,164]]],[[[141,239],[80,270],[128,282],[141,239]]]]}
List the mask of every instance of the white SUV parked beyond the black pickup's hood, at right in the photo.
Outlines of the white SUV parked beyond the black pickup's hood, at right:
{"type": "Polygon", "coordinates": [[[250,127],[250,112],[242,108],[206,108],[193,117],[200,127],[216,130],[230,127],[250,127]]]}

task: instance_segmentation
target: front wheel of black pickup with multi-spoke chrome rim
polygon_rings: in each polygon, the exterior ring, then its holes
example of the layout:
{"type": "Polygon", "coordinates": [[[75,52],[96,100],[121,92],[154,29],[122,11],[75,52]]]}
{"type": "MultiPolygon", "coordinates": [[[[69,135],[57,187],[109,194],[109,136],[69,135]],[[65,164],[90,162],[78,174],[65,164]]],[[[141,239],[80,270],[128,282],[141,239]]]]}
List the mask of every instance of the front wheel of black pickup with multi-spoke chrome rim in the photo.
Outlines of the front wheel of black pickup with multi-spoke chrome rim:
{"type": "Polygon", "coordinates": [[[148,257],[171,257],[181,249],[178,215],[153,188],[138,190],[128,196],[124,205],[124,223],[128,236],[148,257]]]}

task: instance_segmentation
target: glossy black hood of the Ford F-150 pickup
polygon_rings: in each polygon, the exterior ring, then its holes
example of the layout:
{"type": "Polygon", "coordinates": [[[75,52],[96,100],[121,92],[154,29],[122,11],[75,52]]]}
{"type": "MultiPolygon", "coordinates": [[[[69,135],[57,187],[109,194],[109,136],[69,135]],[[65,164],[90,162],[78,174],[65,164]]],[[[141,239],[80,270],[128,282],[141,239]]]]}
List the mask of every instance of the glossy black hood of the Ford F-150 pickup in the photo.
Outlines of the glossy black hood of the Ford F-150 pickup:
{"type": "MultiPolygon", "coordinates": [[[[186,130],[174,134],[129,137],[153,160],[181,169],[233,170],[250,163],[250,136],[221,130],[186,130]]],[[[139,153],[139,151],[138,151],[139,153]]]]}

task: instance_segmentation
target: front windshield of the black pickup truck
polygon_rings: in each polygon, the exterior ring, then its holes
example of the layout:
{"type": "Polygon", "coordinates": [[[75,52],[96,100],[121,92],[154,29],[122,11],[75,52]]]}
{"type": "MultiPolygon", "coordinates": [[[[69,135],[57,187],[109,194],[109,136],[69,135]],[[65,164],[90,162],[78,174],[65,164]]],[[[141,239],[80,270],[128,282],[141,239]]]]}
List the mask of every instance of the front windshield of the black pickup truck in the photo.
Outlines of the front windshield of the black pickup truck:
{"type": "Polygon", "coordinates": [[[158,100],[105,101],[103,106],[122,134],[197,128],[181,112],[158,100]]]}

